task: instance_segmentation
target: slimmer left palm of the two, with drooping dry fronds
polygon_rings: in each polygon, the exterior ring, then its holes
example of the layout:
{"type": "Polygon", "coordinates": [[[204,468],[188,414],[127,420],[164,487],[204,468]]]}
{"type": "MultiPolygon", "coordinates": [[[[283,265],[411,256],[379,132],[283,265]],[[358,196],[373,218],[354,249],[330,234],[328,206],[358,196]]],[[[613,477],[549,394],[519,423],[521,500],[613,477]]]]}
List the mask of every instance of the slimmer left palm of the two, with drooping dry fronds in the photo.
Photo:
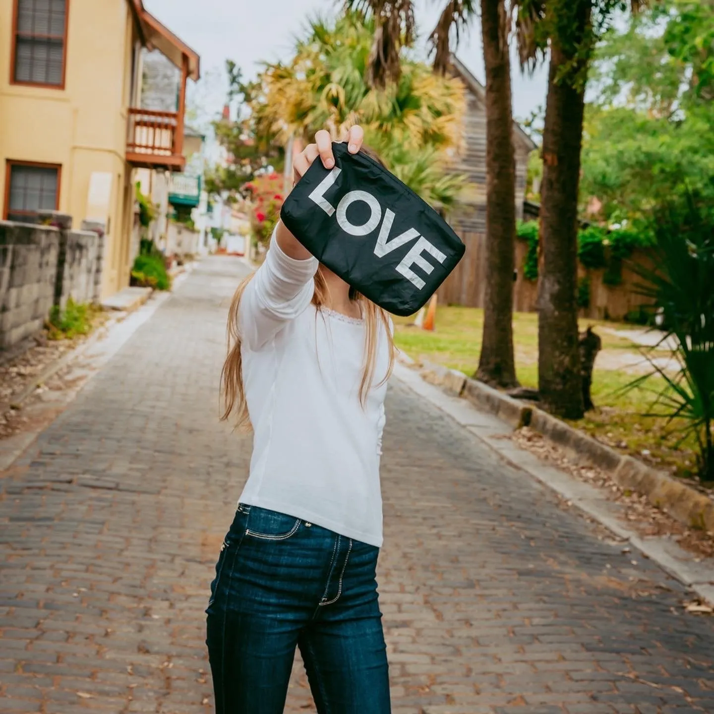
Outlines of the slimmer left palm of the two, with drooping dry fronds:
{"type": "MultiPolygon", "coordinates": [[[[405,0],[348,0],[376,24],[370,55],[372,81],[398,79],[398,49],[413,39],[413,4],[405,0]]],[[[451,61],[451,36],[476,16],[471,0],[449,0],[433,30],[434,69],[444,74],[451,61]]],[[[513,358],[513,267],[516,238],[516,158],[511,110],[510,17],[506,0],[481,0],[481,33],[486,64],[486,301],[483,341],[476,376],[494,386],[518,385],[513,358]]]]}

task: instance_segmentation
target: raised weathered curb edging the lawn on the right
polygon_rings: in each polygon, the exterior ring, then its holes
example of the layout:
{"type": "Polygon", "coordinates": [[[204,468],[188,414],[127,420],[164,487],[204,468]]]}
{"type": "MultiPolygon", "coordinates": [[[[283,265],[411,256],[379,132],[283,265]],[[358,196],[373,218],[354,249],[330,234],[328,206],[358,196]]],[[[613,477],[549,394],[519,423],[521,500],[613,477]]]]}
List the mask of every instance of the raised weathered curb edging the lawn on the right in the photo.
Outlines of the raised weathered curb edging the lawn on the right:
{"type": "Polygon", "coordinates": [[[477,408],[498,416],[514,429],[530,426],[563,448],[575,463],[607,471],[620,486],[645,496],[653,506],[689,528],[714,531],[714,501],[667,473],[625,456],[543,410],[513,399],[461,372],[426,361],[407,363],[403,353],[398,353],[397,358],[407,366],[417,368],[425,381],[453,396],[468,399],[477,408]]]}

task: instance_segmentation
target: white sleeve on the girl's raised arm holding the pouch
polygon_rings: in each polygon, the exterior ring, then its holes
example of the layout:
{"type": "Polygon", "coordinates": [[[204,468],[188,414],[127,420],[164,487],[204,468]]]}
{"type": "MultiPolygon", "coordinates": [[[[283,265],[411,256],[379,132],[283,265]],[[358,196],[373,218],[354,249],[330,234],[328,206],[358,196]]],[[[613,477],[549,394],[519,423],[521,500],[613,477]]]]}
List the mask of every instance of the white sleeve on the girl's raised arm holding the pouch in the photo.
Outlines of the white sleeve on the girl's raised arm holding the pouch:
{"type": "Polygon", "coordinates": [[[273,231],[266,259],[246,286],[238,307],[243,344],[260,349],[307,308],[317,268],[317,258],[298,261],[283,253],[273,231]]]}

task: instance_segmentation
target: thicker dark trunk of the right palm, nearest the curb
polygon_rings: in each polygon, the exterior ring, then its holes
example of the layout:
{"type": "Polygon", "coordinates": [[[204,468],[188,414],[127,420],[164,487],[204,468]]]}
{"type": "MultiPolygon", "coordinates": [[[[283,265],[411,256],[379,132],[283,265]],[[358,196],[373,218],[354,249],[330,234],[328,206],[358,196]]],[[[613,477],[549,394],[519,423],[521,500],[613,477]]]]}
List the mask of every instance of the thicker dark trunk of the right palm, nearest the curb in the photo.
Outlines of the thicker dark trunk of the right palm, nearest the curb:
{"type": "MultiPolygon", "coordinates": [[[[583,36],[590,22],[590,1],[574,0],[583,36]]],[[[538,389],[545,408],[569,419],[583,417],[578,355],[578,184],[585,112],[584,81],[572,74],[577,44],[565,51],[553,37],[543,133],[543,183],[540,205],[541,269],[538,284],[538,389]]],[[[576,68],[577,69],[577,68],[576,68]]]]}

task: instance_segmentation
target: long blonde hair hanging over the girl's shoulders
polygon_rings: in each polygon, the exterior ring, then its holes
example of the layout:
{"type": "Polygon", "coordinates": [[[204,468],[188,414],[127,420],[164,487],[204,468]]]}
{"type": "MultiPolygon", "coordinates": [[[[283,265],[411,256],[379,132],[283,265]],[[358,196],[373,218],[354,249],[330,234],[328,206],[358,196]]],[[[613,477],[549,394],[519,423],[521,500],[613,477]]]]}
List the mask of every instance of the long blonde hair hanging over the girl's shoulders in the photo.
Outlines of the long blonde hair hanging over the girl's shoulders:
{"type": "MultiPolygon", "coordinates": [[[[233,414],[236,417],[236,426],[238,427],[250,426],[248,403],[246,403],[246,392],[243,386],[243,358],[241,356],[241,334],[238,330],[238,308],[241,304],[243,291],[245,291],[252,277],[252,275],[248,276],[238,286],[236,294],[233,296],[233,301],[231,301],[231,308],[228,311],[228,355],[221,371],[221,395],[223,397],[221,421],[226,421],[233,414]]],[[[389,317],[381,307],[375,305],[375,303],[353,290],[353,288],[350,288],[350,299],[360,304],[365,323],[362,379],[359,388],[359,400],[364,407],[374,381],[381,328],[383,328],[387,339],[389,363],[387,373],[376,386],[382,385],[391,376],[394,368],[394,340],[389,317]]],[[[315,292],[312,298],[312,304],[316,307],[318,313],[326,305],[327,300],[327,284],[321,273],[321,268],[318,268],[315,275],[315,292]]]]}

